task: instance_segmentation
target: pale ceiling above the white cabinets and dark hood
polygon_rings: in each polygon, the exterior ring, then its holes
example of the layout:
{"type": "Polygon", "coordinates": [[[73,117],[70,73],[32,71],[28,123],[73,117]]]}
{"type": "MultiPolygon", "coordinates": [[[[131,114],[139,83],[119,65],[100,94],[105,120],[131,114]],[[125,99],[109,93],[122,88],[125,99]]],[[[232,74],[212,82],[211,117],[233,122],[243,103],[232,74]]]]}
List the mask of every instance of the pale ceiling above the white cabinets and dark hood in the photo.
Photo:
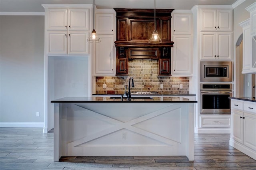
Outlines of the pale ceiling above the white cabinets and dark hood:
{"type": "MultiPolygon", "coordinates": [[[[190,10],[195,5],[232,5],[237,0],[156,0],[156,8],[190,10]]],[[[0,0],[0,12],[44,12],[41,4],[93,4],[93,0],[0,0]]],[[[154,0],[95,0],[97,8],[154,8],[154,0]]]]}

